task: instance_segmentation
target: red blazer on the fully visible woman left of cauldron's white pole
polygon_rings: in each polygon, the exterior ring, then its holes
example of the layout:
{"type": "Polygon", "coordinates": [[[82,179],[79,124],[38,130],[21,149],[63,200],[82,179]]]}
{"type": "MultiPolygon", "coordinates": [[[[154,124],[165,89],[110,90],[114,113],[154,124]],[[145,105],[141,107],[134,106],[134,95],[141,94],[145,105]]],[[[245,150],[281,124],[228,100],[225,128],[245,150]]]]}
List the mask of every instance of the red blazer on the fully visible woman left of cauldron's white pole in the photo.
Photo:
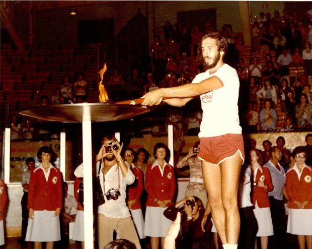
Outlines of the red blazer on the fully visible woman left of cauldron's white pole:
{"type": "Polygon", "coordinates": [[[41,164],[30,173],[28,188],[28,209],[54,211],[62,209],[62,176],[59,169],[50,165],[46,181],[41,164]]]}

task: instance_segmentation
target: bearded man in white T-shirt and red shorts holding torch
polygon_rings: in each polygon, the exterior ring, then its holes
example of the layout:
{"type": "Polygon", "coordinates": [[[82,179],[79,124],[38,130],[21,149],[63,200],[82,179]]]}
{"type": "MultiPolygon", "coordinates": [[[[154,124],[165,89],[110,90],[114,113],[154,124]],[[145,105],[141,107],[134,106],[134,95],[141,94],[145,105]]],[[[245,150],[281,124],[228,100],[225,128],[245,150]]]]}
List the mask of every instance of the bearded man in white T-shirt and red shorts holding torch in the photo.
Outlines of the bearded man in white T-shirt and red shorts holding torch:
{"type": "Polygon", "coordinates": [[[226,39],[219,33],[202,37],[201,51],[207,71],[192,84],[160,88],[143,96],[142,105],[164,102],[183,106],[200,96],[203,118],[200,125],[200,150],[203,178],[209,196],[212,218],[223,248],[237,248],[240,215],[237,205],[239,174],[244,162],[244,142],[240,127],[237,71],[223,62],[226,39]]]}

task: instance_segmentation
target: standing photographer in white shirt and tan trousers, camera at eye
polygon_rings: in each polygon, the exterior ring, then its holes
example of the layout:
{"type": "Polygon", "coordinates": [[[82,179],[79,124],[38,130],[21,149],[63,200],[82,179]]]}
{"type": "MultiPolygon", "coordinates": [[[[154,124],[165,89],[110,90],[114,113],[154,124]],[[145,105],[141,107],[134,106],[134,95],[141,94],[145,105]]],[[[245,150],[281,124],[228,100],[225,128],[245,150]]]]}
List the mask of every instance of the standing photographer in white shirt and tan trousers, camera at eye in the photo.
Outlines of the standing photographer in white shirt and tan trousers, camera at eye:
{"type": "Polygon", "coordinates": [[[98,242],[102,249],[113,241],[114,230],[120,238],[128,239],[140,249],[140,242],[126,205],[126,188],[134,182],[132,171],[121,156],[122,144],[112,136],[102,140],[96,156],[97,176],[104,195],[104,203],[98,208],[98,242]]]}

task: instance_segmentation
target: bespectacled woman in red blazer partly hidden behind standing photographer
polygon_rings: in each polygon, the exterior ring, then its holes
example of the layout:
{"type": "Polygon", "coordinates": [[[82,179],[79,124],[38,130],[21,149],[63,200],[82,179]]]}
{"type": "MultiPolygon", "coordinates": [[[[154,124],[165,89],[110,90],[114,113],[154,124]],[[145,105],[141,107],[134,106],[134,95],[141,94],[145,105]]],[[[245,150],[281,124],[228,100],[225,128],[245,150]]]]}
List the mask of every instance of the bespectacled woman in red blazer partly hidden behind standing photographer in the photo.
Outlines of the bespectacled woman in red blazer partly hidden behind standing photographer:
{"type": "Polygon", "coordinates": [[[145,238],[144,236],[144,219],[141,209],[141,195],[143,193],[143,171],[137,168],[134,161],[134,150],[132,148],[126,148],[123,158],[128,167],[131,168],[132,173],[135,176],[135,181],[128,186],[127,189],[127,205],[130,210],[133,223],[137,235],[140,239],[145,238]]]}

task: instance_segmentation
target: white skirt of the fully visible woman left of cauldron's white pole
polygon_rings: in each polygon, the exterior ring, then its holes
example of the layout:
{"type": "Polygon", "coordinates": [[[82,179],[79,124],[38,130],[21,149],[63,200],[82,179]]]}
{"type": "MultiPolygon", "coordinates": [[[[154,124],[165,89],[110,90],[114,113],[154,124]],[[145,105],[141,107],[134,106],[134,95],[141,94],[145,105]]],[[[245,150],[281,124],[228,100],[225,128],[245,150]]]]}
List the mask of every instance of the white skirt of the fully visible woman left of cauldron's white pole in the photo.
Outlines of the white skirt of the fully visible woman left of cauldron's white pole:
{"type": "Polygon", "coordinates": [[[33,219],[28,218],[26,241],[57,241],[61,239],[59,215],[55,211],[34,211],[33,219]]]}

